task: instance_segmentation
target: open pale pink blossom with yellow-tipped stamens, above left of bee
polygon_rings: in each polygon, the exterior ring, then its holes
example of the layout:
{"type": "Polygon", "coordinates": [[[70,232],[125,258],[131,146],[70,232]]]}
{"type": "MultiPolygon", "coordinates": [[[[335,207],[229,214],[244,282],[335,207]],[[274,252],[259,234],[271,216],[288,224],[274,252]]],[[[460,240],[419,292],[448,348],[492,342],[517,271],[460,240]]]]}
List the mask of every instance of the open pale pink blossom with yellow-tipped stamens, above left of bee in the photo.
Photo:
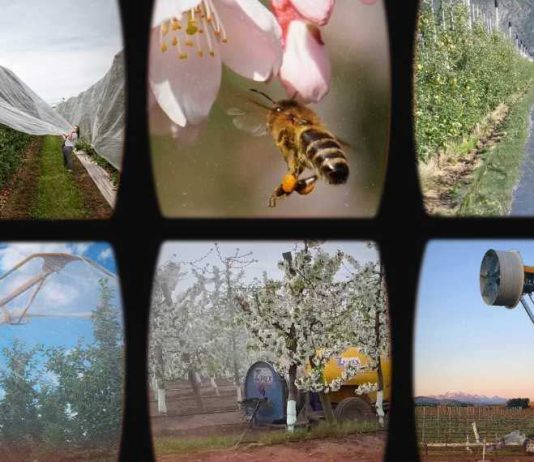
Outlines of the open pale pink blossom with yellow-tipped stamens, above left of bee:
{"type": "Polygon", "coordinates": [[[208,116],[223,63],[256,81],[278,73],[281,29],[267,8],[258,0],[156,0],[149,85],[175,124],[208,116]]]}

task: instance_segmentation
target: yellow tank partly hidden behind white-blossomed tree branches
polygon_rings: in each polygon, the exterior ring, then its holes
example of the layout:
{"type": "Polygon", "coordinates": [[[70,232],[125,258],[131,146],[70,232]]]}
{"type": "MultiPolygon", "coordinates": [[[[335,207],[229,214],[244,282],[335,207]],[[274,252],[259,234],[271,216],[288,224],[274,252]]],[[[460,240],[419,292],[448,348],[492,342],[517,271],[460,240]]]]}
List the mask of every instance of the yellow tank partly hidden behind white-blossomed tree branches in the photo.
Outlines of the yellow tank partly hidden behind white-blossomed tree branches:
{"type": "MultiPolygon", "coordinates": [[[[384,374],[384,401],[389,401],[391,396],[391,359],[386,356],[380,358],[382,364],[382,372],[384,374]]],[[[369,364],[369,357],[361,353],[358,348],[347,348],[340,358],[331,359],[325,366],[324,378],[327,382],[341,376],[344,365],[349,361],[357,361],[362,367],[369,364]]],[[[333,404],[339,403],[344,398],[358,396],[354,393],[356,386],[363,383],[371,382],[376,383],[378,380],[378,374],[376,371],[362,371],[357,373],[352,379],[345,382],[339,391],[330,393],[330,401],[333,404]]],[[[374,403],[376,401],[376,392],[363,395],[369,402],[374,403]]]]}

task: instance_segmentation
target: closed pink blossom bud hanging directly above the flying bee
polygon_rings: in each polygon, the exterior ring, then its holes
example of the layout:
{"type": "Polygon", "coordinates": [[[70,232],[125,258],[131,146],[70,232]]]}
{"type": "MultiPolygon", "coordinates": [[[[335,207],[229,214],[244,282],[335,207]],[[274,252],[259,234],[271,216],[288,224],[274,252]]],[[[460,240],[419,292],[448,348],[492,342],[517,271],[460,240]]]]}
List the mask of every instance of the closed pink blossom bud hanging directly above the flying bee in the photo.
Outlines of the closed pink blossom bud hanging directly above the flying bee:
{"type": "Polygon", "coordinates": [[[318,26],[327,24],[334,0],[272,0],[272,6],[283,33],[282,85],[291,97],[317,103],[328,93],[331,80],[318,26]]]}

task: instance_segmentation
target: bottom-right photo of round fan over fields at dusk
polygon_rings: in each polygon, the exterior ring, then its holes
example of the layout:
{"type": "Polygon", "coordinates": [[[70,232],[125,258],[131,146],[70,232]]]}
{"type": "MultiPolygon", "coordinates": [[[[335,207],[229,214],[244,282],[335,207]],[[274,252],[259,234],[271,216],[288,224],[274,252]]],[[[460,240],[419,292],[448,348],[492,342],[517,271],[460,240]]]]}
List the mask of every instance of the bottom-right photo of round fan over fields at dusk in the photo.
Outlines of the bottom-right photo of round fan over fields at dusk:
{"type": "Polygon", "coordinates": [[[421,460],[531,460],[534,240],[434,240],[416,312],[421,460]]]}

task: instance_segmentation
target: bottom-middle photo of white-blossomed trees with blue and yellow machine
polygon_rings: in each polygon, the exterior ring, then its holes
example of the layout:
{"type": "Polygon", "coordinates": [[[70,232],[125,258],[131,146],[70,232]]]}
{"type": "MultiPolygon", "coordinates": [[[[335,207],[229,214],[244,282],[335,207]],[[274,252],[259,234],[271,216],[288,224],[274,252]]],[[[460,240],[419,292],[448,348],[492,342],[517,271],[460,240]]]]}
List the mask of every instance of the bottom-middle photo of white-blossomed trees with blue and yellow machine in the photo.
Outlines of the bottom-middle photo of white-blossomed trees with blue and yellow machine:
{"type": "Polygon", "coordinates": [[[168,241],[148,401],[158,461],[384,457],[384,271],[363,241],[168,241]]]}

